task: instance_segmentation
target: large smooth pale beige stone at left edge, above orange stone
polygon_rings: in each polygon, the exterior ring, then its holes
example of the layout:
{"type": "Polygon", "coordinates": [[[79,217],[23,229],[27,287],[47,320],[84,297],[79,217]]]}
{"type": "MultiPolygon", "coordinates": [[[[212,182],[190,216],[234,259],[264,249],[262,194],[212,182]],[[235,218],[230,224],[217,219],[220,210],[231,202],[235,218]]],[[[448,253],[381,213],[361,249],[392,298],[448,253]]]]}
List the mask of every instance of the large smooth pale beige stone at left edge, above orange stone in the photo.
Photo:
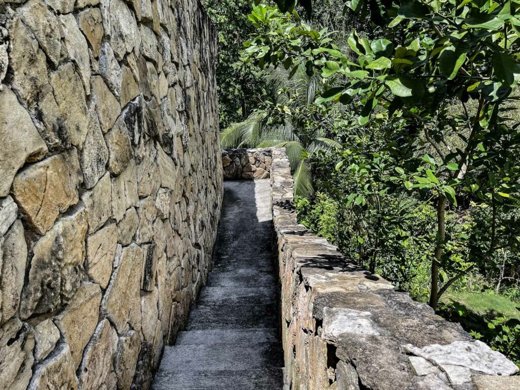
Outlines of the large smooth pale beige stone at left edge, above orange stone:
{"type": "Polygon", "coordinates": [[[29,114],[7,87],[0,91],[0,139],[0,197],[5,197],[19,168],[47,153],[29,114]]]}

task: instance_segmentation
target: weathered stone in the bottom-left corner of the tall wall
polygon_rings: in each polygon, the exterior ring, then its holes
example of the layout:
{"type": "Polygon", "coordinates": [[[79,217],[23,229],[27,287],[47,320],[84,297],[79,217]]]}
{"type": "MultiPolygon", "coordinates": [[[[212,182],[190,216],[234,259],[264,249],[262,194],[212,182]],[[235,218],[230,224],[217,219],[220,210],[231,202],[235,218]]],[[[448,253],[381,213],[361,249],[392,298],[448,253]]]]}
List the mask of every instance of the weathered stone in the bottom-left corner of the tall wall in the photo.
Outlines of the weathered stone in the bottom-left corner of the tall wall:
{"type": "Polygon", "coordinates": [[[24,390],[32,375],[34,332],[27,323],[11,319],[0,328],[0,387],[24,390]]]}

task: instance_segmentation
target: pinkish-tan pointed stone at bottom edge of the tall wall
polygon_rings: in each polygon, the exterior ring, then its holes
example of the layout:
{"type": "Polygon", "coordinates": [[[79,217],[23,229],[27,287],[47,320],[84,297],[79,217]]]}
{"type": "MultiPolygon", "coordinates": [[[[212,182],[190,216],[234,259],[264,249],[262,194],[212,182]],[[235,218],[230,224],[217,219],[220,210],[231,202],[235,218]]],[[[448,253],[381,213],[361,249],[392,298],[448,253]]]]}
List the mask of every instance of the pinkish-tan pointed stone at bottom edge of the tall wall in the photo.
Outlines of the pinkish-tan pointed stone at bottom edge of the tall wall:
{"type": "Polygon", "coordinates": [[[108,320],[99,322],[85,348],[83,361],[78,370],[80,388],[84,390],[116,387],[113,357],[118,345],[118,334],[108,320]]]}

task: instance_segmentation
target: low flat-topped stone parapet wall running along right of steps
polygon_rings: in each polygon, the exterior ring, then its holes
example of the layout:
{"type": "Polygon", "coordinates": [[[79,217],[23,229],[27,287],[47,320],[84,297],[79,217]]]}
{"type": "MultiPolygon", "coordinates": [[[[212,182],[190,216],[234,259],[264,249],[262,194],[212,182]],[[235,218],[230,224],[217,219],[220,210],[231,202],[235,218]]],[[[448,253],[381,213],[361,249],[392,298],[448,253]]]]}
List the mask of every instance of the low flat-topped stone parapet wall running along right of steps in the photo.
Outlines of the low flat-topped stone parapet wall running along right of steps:
{"type": "Polygon", "coordinates": [[[291,389],[520,388],[503,355],[298,224],[283,149],[272,151],[271,191],[291,389]]]}

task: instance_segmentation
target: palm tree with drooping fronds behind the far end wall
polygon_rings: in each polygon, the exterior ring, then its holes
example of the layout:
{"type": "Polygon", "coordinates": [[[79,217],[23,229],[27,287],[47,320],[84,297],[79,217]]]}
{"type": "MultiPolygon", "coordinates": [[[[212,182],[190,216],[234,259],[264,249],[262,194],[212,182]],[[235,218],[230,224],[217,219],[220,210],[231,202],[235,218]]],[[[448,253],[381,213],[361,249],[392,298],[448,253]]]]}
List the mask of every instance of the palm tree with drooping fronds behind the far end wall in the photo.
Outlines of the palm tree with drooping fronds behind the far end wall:
{"type": "MultiPolygon", "coordinates": [[[[272,69],[266,76],[266,85],[273,93],[274,106],[284,107],[286,112],[302,111],[314,107],[316,91],[322,88],[319,75],[307,75],[300,66],[290,77],[283,69],[272,69]]],[[[342,110],[342,107],[334,109],[342,110]]],[[[316,123],[331,121],[314,114],[316,123]]],[[[220,144],[226,148],[285,147],[294,177],[294,193],[310,198],[313,180],[309,159],[320,150],[330,150],[341,145],[324,137],[324,126],[315,126],[309,132],[298,123],[295,116],[285,116],[283,123],[270,123],[269,114],[263,109],[252,112],[242,122],[233,123],[220,133],[220,144]]]]}

